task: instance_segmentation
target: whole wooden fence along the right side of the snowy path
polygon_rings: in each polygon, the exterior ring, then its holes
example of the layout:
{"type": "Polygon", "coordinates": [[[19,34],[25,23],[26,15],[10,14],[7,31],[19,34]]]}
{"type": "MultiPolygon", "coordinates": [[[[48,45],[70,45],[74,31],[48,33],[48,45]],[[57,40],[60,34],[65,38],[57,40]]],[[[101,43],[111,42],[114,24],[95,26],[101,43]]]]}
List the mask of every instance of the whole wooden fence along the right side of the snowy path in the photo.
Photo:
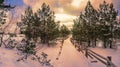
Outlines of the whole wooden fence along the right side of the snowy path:
{"type": "Polygon", "coordinates": [[[100,61],[101,63],[105,64],[106,67],[117,67],[113,62],[112,62],[112,57],[111,56],[107,56],[107,57],[103,57],[101,55],[99,55],[98,53],[88,49],[87,47],[85,47],[84,45],[79,45],[74,39],[70,39],[70,41],[72,42],[72,44],[75,46],[75,48],[77,48],[77,50],[81,51],[83,53],[83,50],[85,50],[85,56],[88,58],[90,57],[91,59],[96,58],[98,61],[100,61]],[[81,48],[81,46],[83,46],[81,48]]]}

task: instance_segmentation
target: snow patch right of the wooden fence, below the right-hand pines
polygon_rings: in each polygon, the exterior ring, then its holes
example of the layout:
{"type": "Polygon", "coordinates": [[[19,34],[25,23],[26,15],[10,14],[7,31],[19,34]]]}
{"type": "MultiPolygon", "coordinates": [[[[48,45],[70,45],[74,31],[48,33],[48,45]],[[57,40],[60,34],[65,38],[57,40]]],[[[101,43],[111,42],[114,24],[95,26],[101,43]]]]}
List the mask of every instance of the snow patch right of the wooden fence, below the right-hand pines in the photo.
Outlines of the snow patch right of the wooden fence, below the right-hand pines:
{"type": "Polygon", "coordinates": [[[119,67],[120,66],[120,46],[118,49],[104,49],[104,48],[92,48],[92,50],[104,57],[111,56],[112,62],[119,67]]]}

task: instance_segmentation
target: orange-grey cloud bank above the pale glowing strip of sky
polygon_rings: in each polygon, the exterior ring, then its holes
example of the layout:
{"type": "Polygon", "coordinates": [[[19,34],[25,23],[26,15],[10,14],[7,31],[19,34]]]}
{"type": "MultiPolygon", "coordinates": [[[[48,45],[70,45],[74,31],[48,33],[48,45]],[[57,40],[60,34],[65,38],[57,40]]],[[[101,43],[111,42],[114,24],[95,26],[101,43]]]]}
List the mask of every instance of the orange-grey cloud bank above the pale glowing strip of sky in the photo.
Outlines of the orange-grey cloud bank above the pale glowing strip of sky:
{"type": "MultiPolygon", "coordinates": [[[[42,3],[49,4],[51,9],[55,13],[59,13],[60,9],[64,13],[79,15],[80,11],[83,11],[88,0],[23,0],[26,5],[29,5],[36,11],[41,7],[42,3]]],[[[104,0],[90,0],[95,8],[98,8],[99,4],[104,0]]],[[[112,0],[106,0],[106,2],[111,3],[112,0]]]]}

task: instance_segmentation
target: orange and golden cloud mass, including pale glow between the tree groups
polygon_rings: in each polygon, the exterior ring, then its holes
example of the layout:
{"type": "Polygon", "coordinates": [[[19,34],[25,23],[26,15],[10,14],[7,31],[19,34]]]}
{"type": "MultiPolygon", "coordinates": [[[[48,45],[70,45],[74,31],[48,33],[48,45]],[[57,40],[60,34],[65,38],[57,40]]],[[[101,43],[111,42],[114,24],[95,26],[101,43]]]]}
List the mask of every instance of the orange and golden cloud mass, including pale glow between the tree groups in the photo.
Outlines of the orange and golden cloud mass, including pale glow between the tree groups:
{"type": "MultiPolygon", "coordinates": [[[[99,4],[103,3],[104,0],[90,0],[91,4],[95,9],[98,9],[99,4]]],[[[118,0],[105,0],[107,3],[114,2],[119,4],[118,0]]],[[[84,10],[88,0],[23,0],[25,5],[31,6],[33,11],[41,8],[42,3],[46,3],[50,8],[55,11],[56,20],[61,21],[61,24],[69,25],[73,24],[75,19],[81,11],[84,10]]],[[[120,2],[120,1],[119,1],[120,2]]],[[[118,5],[115,6],[119,8],[118,5]]]]}

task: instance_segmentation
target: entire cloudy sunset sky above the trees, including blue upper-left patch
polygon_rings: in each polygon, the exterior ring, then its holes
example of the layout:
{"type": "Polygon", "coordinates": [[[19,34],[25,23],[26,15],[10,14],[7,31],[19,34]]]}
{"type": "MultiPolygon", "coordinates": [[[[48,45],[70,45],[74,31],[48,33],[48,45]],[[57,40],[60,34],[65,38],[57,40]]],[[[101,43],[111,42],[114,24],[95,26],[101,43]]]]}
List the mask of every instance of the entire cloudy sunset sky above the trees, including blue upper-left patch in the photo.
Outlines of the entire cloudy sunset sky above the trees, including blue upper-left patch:
{"type": "MultiPolygon", "coordinates": [[[[94,8],[98,8],[99,4],[103,0],[90,0],[94,8]]],[[[120,0],[105,0],[107,3],[113,3],[116,10],[119,11],[120,15],[120,0]]],[[[14,11],[14,17],[17,21],[20,21],[21,14],[27,6],[31,6],[33,11],[41,8],[42,3],[50,5],[50,8],[55,12],[55,17],[57,21],[61,21],[61,24],[65,24],[68,27],[73,24],[73,19],[75,19],[81,11],[84,10],[88,0],[5,0],[6,4],[11,4],[16,6],[14,11]]]]}

